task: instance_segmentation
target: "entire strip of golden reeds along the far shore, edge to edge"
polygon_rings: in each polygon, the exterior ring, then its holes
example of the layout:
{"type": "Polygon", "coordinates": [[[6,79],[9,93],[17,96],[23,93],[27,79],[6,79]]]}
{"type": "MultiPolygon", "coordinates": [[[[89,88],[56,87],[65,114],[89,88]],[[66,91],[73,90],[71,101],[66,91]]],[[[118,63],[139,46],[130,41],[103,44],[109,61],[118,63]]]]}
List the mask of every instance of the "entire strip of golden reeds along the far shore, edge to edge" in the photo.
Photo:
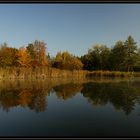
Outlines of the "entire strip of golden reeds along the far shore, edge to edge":
{"type": "Polygon", "coordinates": [[[0,68],[0,79],[140,77],[140,72],[60,70],[51,67],[0,68]]]}

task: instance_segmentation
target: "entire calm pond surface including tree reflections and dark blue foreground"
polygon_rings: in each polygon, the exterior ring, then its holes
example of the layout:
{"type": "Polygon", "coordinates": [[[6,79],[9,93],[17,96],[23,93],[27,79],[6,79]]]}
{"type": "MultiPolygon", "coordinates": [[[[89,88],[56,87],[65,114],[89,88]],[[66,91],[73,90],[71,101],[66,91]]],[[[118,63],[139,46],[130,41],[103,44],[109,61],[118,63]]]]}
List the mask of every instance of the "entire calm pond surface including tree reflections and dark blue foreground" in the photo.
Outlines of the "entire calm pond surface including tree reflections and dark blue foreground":
{"type": "Polygon", "coordinates": [[[0,137],[139,137],[140,79],[0,81],[0,137]]]}

